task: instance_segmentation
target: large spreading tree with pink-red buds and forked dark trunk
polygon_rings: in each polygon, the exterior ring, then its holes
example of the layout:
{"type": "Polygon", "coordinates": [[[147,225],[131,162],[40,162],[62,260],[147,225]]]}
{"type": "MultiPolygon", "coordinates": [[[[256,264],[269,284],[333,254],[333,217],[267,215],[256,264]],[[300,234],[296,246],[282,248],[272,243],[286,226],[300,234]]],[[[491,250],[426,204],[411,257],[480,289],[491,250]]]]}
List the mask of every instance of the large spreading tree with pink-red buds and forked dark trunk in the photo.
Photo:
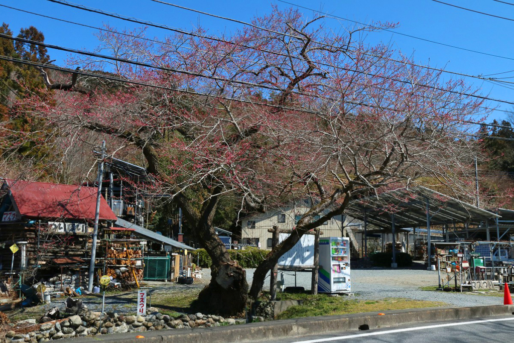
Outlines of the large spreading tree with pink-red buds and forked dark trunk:
{"type": "Polygon", "coordinates": [[[324,25],[273,8],[230,37],[199,29],[157,42],[106,28],[96,52],[115,58],[71,64],[119,82],[76,75],[56,84],[45,75],[53,101],[30,99],[62,141],[95,132],[118,154],[140,151],[152,192],[171,195],[212,258],[199,296],[210,311],[242,311],[279,257],[352,198],[426,176],[460,189],[454,172],[473,153],[466,121],[480,113],[473,89],[388,46],[366,46],[356,34],[366,28],[336,34],[324,25]],[[249,293],[212,225],[227,195],[247,213],[313,200],[296,233],[255,270],[249,293]]]}

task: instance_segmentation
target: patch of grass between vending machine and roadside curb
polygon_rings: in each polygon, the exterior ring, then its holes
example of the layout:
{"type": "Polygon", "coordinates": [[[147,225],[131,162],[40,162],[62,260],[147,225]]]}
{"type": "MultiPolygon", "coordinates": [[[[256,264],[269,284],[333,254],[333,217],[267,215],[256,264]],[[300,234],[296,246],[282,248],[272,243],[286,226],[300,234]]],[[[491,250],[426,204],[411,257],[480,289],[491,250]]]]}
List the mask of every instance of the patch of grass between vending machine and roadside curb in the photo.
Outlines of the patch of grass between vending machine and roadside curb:
{"type": "MultiPolygon", "coordinates": [[[[297,300],[302,300],[298,299],[297,300]]],[[[388,310],[421,309],[446,306],[444,302],[412,300],[404,298],[385,298],[376,301],[331,297],[326,294],[304,297],[303,305],[291,306],[281,313],[277,319],[340,315],[388,310]]]]}

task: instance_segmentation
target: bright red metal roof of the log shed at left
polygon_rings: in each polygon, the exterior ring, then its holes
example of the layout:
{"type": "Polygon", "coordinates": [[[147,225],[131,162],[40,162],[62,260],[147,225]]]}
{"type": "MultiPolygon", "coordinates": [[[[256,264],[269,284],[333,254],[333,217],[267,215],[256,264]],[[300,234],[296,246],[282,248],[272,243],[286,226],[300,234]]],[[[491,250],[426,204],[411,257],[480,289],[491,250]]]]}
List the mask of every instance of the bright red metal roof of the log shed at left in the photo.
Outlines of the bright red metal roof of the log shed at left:
{"type": "MultiPolygon", "coordinates": [[[[20,214],[28,218],[95,220],[97,187],[6,179],[20,214]]],[[[117,220],[103,196],[100,220],[117,220]]]]}

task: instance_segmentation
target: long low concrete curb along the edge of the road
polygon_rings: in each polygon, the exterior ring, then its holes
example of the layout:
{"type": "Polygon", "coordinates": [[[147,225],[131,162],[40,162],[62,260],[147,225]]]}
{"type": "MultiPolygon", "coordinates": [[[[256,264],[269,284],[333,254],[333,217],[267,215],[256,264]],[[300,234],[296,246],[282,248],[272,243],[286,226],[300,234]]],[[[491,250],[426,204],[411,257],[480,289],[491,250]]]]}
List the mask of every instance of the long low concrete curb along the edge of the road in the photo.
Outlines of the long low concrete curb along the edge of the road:
{"type": "Polygon", "coordinates": [[[249,323],[230,327],[145,331],[125,334],[99,335],[59,339],[61,343],[212,343],[255,342],[305,335],[323,335],[341,331],[356,331],[360,326],[369,329],[390,328],[402,324],[436,322],[455,319],[514,315],[514,305],[473,306],[466,308],[429,308],[416,310],[359,313],[342,316],[308,317],[249,323]],[[144,339],[136,338],[137,335],[144,339]]]}

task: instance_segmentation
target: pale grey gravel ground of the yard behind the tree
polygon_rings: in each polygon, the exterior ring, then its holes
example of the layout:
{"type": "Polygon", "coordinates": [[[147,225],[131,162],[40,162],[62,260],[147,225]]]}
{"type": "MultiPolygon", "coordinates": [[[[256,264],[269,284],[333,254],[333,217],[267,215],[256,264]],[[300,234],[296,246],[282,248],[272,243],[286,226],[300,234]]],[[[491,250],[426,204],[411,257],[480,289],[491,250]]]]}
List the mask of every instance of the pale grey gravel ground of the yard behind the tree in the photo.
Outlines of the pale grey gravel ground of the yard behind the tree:
{"type": "MultiPolygon", "coordinates": [[[[255,269],[246,270],[246,278],[251,284],[255,269]]],[[[195,281],[192,285],[181,285],[177,283],[148,282],[148,286],[153,287],[152,294],[154,299],[163,296],[173,296],[174,294],[197,294],[211,278],[210,269],[203,270],[203,277],[195,281]]],[[[295,285],[294,272],[281,272],[284,274],[286,286],[295,285]]],[[[298,272],[296,283],[298,286],[310,290],[310,272],[298,272]]],[[[357,299],[377,300],[382,298],[409,298],[414,300],[441,301],[450,306],[479,306],[502,304],[501,297],[482,296],[478,294],[460,294],[452,292],[432,292],[421,291],[421,286],[437,285],[437,272],[425,270],[423,268],[413,269],[392,269],[392,268],[366,268],[352,269],[352,293],[357,299]]],[[[269,273],[264,282],[264,290],[269,290],[269,273]]],[[[92,311],[101,311],[102,296],[81,298],[84,304],[92,311]]],[[[64,300],[52,299],[51,304],[44,307],[50,309],[54,306],[64,308],[64,300]]],[[[123,293],[107,293],[105,296],[105,311],[115,311],[119,314],[133,313],[136,304],[136,291],[123,293]]],[[[39,310],[41,311],[41,309],[39,310]]],[[[25,312],[24,310],[21,311],[25,312]]],[[[30,308],[27,309],[30,312],[30,308]]],[[[26,313],[27,315],[29,313],[26,313]]]]}

